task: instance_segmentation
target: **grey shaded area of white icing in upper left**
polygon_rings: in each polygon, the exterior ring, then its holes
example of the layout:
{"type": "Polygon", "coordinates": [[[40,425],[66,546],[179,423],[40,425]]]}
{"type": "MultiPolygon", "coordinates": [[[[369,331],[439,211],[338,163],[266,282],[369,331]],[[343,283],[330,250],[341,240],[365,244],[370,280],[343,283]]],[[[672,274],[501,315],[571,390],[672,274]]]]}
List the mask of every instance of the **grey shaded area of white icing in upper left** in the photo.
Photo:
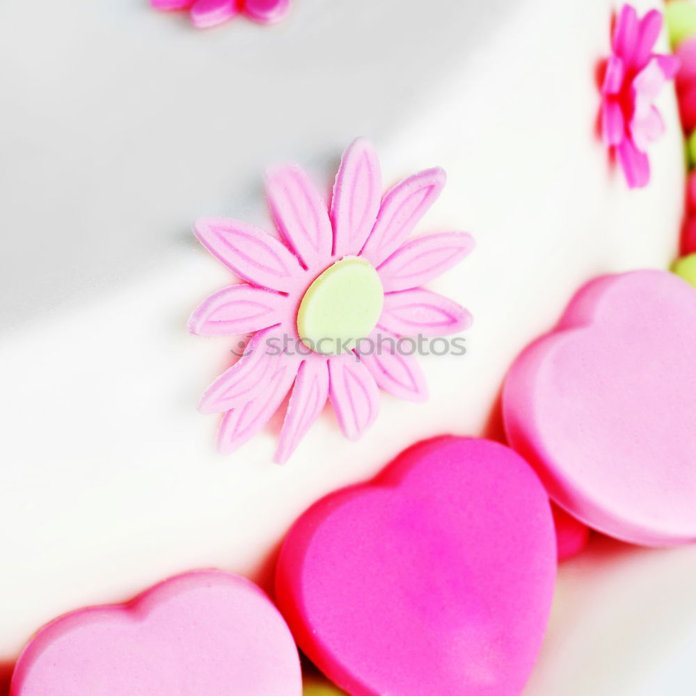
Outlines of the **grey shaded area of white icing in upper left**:
{"type": "Polygon", "coordinates": [[[1,3],[0,331],[148,272],[199,214],[265,220],[269,164],[379,140],[511,3],[293,4],[200,31],[144,0],[1,3]]]}

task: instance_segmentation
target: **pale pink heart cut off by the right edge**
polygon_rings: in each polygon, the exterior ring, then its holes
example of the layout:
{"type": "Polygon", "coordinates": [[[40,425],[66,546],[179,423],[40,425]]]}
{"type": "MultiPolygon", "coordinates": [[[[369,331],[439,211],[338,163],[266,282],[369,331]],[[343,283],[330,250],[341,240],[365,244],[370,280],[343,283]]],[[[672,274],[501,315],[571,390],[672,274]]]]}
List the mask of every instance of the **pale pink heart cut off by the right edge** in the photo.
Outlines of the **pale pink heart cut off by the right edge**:
{"type": "Polygon", "coordinates": [[[509,442],[601,532],[696,539],[695,326],[696,292],[673,274],[597,278],[507,376],[509,442]]]}

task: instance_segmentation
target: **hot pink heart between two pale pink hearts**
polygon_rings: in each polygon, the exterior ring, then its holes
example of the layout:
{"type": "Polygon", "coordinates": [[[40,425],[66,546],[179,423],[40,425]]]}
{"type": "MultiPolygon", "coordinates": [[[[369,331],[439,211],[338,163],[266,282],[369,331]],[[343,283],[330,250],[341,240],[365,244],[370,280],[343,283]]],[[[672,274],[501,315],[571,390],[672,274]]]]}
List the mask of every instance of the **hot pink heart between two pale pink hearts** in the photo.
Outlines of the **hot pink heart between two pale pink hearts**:
{"type": "Polygon", "coordinates": [[[303,651],[352,696],[511,696],[537,657],[555,568],[530,466],[444,437],[303,514],[276,596],[303,651]]]}

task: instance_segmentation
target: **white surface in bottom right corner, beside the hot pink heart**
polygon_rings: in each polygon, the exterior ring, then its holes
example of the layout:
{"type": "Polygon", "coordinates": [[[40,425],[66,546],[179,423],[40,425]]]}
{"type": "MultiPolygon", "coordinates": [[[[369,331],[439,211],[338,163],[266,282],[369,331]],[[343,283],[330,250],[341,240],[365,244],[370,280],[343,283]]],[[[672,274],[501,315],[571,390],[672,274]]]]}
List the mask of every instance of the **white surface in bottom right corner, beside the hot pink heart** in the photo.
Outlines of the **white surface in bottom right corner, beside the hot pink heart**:
{"type": "Polygon", "coordinates": [[[693,696],[696,546],[596,535],[561,564],[551,626],[524,696],[693,696]]]}

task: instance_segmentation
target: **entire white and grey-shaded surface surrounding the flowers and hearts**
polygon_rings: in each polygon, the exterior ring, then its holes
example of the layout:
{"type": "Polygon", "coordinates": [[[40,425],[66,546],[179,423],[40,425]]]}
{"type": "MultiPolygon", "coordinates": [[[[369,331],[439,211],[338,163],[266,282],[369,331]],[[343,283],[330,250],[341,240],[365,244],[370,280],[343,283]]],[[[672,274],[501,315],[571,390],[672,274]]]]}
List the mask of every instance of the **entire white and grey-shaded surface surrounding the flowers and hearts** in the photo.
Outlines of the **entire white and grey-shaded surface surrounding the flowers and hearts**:
{"type": "MultiPolygon", "coordinates": [[[[271,29],[201,33],[139,0],[0,4],[0,661],[55,615],[176,572],[267,580],[313,500],[420,438],[480,434],[507,365],[580,283],[672,258],[673,95],[644,191],[594,132],[612,3],[294,5],[271,29]],[[268,226],[263,169],[294,159],[329,191],[358,134],[386,184],[448,171],[420,230],[477,238],[433,284],[475,316],[468,355],[425,360],[430,402],[384,397],[360,443],[326,411],[283,468],[278,418],[221,457],[196,404],[230,345],[185,322],[230,276],[191,221],[268,226]]],[[[692,695],[695,566],[693,548],[607,541],[564,567],[528,695],[692,695]]]]}

